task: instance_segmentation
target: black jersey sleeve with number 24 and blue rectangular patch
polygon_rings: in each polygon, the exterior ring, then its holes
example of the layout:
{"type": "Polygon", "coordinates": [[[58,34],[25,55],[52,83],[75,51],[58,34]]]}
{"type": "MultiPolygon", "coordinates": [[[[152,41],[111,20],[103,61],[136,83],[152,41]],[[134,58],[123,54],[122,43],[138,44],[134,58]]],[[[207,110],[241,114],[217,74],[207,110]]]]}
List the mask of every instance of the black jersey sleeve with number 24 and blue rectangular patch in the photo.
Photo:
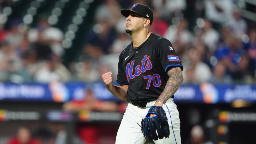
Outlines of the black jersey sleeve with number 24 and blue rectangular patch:
{"type": "Polygon", "coordinates": [[[162,67],[165,70],[165,73],[169,71],[173,66],[180,66],[181,70],[183,70],[183,65],[181,64],[181,60],[176,54],[172,44],[167,39],[162,39],[159,43],[158,49],[156,49],[156,53],[161,61],[162,67]]]}

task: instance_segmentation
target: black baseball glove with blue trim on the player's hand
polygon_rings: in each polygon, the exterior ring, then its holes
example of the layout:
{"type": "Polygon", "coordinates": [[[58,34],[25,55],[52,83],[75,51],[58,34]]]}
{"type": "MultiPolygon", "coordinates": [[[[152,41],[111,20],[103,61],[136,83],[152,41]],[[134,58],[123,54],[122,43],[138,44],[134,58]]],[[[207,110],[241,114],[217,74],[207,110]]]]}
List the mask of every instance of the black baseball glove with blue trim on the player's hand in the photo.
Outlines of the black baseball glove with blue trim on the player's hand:
{"type": "Polygon", "coordinates": [[[148,114],[142,119],[141,130],[148,141],[158,140],[162,138],[169,138],[170,129],[167,122],[165,111],[160,106],[151,106],[148,114]],[[150,114],[156,114],[154,117],[150,117],[150,114]],[[157,131],[157,133],[156,133],[157,131]]]}

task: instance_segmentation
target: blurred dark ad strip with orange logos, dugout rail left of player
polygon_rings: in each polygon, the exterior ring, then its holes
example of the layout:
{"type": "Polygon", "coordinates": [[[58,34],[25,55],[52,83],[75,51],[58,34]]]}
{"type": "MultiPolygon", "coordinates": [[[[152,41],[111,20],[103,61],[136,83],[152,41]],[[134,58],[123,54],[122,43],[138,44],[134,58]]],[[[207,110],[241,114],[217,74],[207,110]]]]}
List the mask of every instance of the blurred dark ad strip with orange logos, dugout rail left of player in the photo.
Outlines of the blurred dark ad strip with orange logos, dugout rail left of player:
{"type": "Polygon", "coordinates": [[[82,110],[79,112],[66,112],[62,110],[50,111],[11,111],[0,109],[0,122],[7,121],[50,121],[50,122],[120,122],[123,118],[121,112],[100,112],[82,110]]]}

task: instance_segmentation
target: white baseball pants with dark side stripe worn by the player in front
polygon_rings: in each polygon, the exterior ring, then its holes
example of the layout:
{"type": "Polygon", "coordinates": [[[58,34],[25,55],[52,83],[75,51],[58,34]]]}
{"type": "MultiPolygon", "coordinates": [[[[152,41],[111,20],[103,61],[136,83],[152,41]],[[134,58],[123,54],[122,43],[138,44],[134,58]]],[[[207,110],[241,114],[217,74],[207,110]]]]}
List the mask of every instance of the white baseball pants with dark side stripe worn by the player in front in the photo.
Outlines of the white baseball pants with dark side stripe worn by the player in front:
{"type": "MultiPolygon", "coordinates": [[[[151,101],[147,103],[146,107],[138,108],[132,103],[128,103],[117,132],[116,144],[144,144],[146,142],[139,125],[141,125],[141,121],[148,113],[149,108],[154,104],[155,101],[151,101]]],[[[163,105],[163,109],[168,118],[170,136],[169,138],[154,140],[155,144],[181,144],[180,118],[173,98],[170,98],[163,105]]]]}

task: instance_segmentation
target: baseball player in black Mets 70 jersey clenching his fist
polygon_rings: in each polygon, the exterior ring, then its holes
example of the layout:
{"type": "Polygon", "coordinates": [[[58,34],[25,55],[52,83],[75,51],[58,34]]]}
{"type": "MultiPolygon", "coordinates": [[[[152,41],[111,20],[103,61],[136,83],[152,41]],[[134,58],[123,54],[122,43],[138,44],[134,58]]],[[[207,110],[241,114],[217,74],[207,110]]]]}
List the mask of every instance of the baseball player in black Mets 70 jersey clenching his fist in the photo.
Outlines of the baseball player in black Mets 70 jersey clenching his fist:
{"type": "Polygon", "coordinates": [[[128,101],[117,132],[116,144],[181,144],[180,119],[173,101],[183,81],[183,66],[170,41],[150,32],[152,10],[134,4],[121,10],[126,32],[132,42],[121,52],[118,74],[102,75],[106,88],[117,98],[128,101]]]}

